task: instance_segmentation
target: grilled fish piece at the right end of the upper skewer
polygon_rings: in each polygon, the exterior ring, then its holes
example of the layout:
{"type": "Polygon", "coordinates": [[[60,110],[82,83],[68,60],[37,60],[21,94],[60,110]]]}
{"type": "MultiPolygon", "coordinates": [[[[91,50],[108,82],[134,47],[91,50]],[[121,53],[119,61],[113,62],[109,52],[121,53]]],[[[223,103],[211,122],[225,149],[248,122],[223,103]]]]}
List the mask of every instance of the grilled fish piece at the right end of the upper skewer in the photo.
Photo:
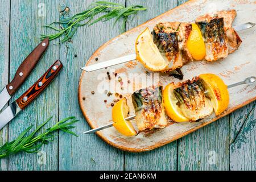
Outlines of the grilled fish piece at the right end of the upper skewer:
{"type": "Polygon", "coordinates": [[[236,10],[217,11],[196,19],[203,38],[207,54],[205,60],[216,61],[225,58],[238,49],[242,40],[232,28],[236,10]]]}

